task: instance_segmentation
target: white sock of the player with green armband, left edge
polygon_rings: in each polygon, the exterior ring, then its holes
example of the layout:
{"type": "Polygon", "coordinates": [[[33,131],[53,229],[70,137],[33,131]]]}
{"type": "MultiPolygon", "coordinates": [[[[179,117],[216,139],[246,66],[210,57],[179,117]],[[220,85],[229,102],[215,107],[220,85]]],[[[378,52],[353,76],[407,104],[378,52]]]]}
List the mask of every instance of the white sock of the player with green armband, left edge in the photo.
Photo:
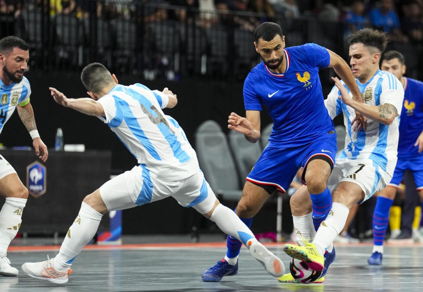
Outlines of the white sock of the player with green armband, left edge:
{"type": "Polygon", "coordinates": [[[6,254],[12,239],[18,233],[22,223],[22,210],[27,199],[6,198],[0,211],[0,257],[6,254]]]}

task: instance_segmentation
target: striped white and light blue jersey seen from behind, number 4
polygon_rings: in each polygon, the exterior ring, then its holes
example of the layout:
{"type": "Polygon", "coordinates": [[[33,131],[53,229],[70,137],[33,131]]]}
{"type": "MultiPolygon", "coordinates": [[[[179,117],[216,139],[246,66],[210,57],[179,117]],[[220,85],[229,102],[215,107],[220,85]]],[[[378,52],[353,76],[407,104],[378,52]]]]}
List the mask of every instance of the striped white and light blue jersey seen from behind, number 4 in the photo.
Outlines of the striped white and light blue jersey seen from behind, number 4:
{"type": "Polygon", "coordinates": [[[178,122],[163,113],[168,96],[139,83],[116,85],[98,102],[107,123],[126,148],[161,180],[179,180],[199,172],[194,149],[178,122]]]}

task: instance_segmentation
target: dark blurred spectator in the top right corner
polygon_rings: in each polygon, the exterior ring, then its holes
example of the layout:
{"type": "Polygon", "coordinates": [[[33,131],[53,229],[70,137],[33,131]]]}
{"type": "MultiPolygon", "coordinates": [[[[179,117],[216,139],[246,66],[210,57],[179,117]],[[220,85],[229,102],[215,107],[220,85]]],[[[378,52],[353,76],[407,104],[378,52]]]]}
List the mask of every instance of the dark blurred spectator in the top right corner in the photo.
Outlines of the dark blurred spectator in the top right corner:
{"type": "Polygon", "coordinates": [[[423,41],[422,7],[418,2],[411,2],[402,6],[403,18],[401,30],[413,43],[423,41]]]}

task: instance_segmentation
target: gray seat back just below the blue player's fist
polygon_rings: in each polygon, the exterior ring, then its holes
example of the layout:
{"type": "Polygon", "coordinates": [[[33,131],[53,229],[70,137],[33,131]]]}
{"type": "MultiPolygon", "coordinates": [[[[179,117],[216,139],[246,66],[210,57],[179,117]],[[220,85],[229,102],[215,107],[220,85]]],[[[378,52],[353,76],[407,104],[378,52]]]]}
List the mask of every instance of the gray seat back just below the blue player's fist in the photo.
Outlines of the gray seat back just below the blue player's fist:
{"type": "Polygon", "coordinates": [[[250,173],[261,155],[261,146],[258,142],[248,142],[244,134],[232,130],[228,134],[228,139],[236,166],[238,166],[240,182],[243,185],[245,177],[250,173]]]}

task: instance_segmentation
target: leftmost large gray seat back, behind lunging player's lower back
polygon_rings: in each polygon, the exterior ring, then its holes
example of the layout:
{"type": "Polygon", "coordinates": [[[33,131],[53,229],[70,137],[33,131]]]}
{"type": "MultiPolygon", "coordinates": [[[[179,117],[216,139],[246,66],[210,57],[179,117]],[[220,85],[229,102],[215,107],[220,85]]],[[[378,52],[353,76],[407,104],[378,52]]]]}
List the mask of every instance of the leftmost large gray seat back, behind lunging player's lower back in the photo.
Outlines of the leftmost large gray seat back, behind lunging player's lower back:
{"type": "Polygon", "coordinates": [[[200,167],[218,198],[238,201],[242,196],[239,176],[219,124],[213,120],[202,123],[195,131],[195,145],[200,167]]]}

